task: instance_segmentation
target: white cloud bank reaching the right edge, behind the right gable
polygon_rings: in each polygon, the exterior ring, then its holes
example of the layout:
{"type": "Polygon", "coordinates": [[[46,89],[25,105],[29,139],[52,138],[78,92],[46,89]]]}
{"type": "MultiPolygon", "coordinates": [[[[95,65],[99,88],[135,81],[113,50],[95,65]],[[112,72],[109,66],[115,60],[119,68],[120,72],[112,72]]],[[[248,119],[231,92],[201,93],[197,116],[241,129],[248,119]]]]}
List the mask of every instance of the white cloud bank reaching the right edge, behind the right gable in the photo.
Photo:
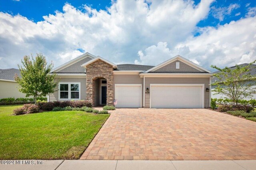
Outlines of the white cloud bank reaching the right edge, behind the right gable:
{"type": "Polygon", "coordinates": [[[256,59],[255,20],[256,17],[244,18],[217,28],[206,27],[198,37],[191,36],[173,48],[160,42],[140,51],[140,61],[135,63],[159,64],[178,54],[205,68],[211,64],[224,67],[250,63],[256,59]]]}

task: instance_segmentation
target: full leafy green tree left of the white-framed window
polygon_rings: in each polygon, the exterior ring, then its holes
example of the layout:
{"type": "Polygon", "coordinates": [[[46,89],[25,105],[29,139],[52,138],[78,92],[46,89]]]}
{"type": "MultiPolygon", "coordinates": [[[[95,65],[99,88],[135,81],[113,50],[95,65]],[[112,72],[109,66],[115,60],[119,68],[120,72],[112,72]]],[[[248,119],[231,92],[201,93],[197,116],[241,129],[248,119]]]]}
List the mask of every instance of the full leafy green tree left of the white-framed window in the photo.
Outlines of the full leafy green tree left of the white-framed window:
{"type": "Polygon", "coordinates": [[[25,56],[21,63],[24,67],[18,64],[21,77],[16,74],[14,78],[19,84],[19,91],[25,93],[26,97],[34,96],[36,104],[38,96],[46,96],[55,91],[57,82],[54,78],[56,74],[49,74],[53,64],[47,65],[46,59],[41,53],[36,54],[35,59],[32,55],[31,59],[29,56],[25,56]]]}

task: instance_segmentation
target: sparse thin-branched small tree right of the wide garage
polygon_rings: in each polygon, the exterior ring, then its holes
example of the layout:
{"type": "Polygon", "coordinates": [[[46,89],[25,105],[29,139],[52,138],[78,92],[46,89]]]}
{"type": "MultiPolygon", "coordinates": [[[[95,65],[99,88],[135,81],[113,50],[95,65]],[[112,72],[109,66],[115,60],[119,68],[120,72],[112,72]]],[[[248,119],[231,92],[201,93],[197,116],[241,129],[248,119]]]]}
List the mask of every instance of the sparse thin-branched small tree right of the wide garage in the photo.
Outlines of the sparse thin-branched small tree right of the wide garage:
{"type": "Polygon", "coordinates": [[[239,100],[242,98],[250,97],[256,93],[256,88],[253,86],[256,84],[256,77],[249,73],[250,66],[254,62],[247,66],[239,66],[236,64],[234,69],[225,67],[223,69],[217,66],[211,66],[216,68],[220,72],[214,74],[218,78],[218,82],[214,82],[212,85],[217,87],[212,90],[216,94],[224,94],[232,101],[233,107],[238,105],[239,100]]]}

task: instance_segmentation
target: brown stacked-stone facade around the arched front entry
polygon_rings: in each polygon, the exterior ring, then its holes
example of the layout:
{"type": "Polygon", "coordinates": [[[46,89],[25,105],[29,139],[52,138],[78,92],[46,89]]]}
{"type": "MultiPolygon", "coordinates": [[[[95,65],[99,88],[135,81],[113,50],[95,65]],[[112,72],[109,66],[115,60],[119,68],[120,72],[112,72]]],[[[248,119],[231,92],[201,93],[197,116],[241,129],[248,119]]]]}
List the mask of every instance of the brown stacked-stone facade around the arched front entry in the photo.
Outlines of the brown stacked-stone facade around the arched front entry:
{"type": "MultiPolygon", "coordinates": [[[[98,78],[105,78],[107,80],[107,105],[113,105],[113,66],[97,60],[92,64],[86,66],[86,99],[92,102],[92,106],[95,106],[95,81],[98,78]]],[[[96,89],[98,90],[98,89],[96,89]]]]}

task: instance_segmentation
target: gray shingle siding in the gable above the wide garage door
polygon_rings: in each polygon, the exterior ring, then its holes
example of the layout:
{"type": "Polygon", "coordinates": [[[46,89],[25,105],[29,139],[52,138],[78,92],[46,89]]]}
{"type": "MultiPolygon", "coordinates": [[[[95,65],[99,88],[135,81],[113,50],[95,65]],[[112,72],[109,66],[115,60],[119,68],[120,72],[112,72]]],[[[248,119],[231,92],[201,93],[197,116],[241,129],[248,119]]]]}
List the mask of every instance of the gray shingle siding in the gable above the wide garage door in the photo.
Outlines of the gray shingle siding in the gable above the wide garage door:
{"type": "Polygon", "coordinates": [[[163,66],[153,72],[201,72],[188,64],[183,63],[182,61],[176,60],[166,66],[163,66]],[[180,62],[180,68],[176,69],[176,62],[180,62]]]}

